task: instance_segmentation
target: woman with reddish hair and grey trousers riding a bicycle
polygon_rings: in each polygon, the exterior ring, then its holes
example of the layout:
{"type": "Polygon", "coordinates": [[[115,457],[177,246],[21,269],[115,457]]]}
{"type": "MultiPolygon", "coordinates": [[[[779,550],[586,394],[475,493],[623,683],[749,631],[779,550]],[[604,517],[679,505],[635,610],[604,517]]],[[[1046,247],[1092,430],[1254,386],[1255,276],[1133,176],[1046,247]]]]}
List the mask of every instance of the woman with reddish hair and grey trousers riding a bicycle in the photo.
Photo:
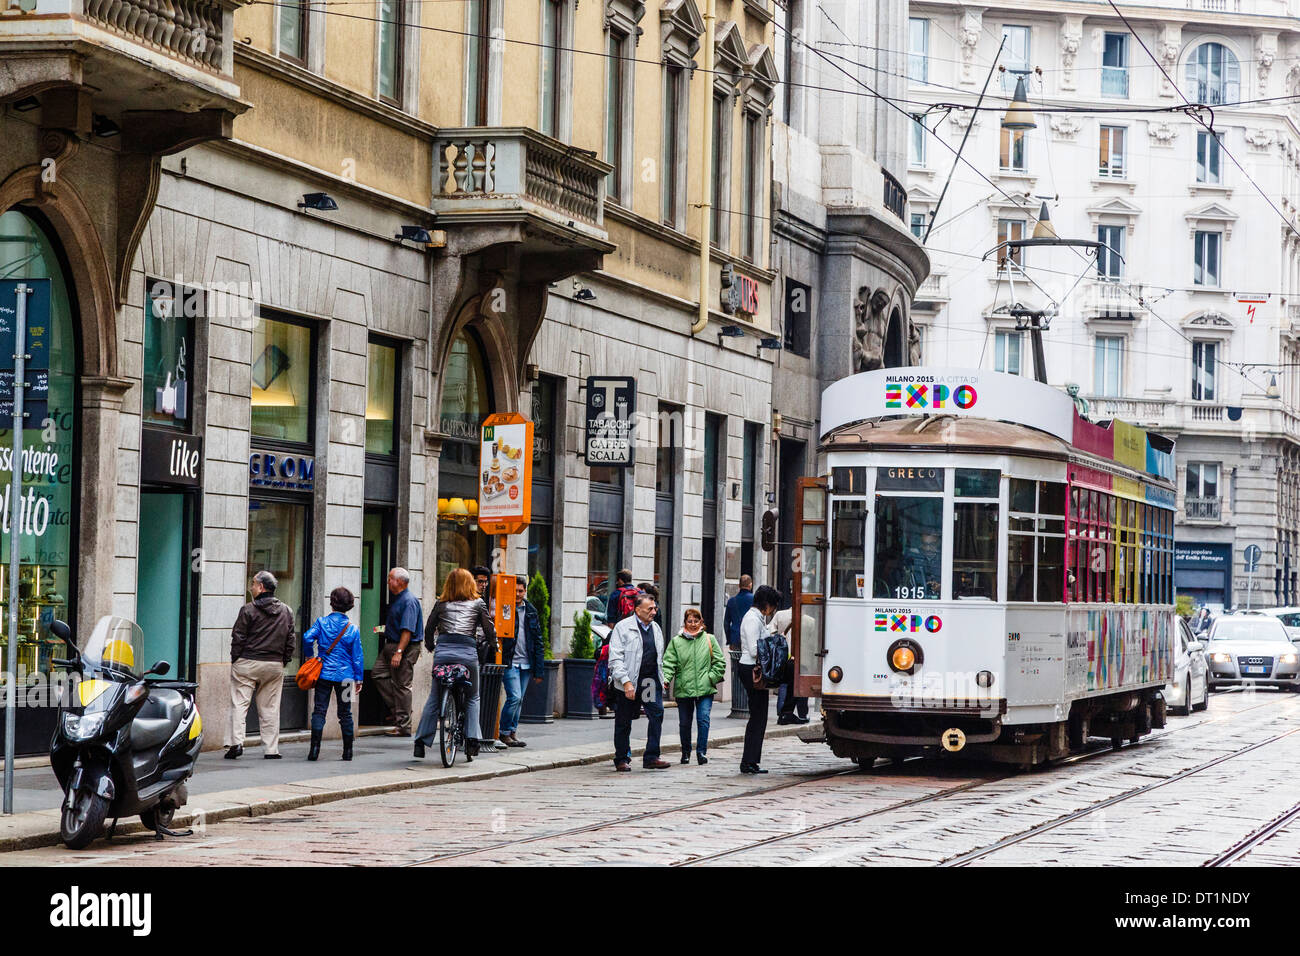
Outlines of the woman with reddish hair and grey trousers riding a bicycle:
{"type": "MultiPolygon", "coordinates": [[[[474,578],[465,568],[458,567],[447,575],[442,585],[438,601],[429,611],[429,620],[424,628],[424,645],[433,650],[434,666],[439,663],[460,663],[469,669],[471,689],[469,706],[465,713],[465,754],[474,757],[478,753],[478,641],[476,635],[480,628],[486,635],[495,635],[497,626],[493,623],[488,605],[478,597],[478,587],[474,578]]],[[[495,657],[495,641],[491,643],[491,656],[495,657]]],[[[424,713],[420,714],[420,726],[415,735],[415,756],[422,757],[425,747],[434,747],[438,743],[438,717],[442,695],[437,682],[429,691],[429,700],[424,704],[424,713]]]]}

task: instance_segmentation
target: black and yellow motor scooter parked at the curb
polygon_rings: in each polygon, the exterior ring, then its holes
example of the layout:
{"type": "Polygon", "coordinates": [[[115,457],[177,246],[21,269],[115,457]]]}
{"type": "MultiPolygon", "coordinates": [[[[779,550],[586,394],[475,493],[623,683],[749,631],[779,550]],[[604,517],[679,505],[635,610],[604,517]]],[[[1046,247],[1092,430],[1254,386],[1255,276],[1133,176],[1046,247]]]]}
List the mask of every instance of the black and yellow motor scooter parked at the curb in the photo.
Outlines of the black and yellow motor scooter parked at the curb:
{"type": "Polygon", "coordinates": [[[157,680],[170,671],[159,661],[135,672],[140,628],[125,618],[105,617],[83,648],[66,623],[51,632],[70,656],[56,666],[77,675],[61,701],[49,748],[49,763],[64,788],[60,836],[69,849],[83,849],[113,819],[139,814],[157,839],[192,831],[168,827],[188,799],[186,782],[203,748],[203,721],[195,705],[196,684],[157,680]]]}

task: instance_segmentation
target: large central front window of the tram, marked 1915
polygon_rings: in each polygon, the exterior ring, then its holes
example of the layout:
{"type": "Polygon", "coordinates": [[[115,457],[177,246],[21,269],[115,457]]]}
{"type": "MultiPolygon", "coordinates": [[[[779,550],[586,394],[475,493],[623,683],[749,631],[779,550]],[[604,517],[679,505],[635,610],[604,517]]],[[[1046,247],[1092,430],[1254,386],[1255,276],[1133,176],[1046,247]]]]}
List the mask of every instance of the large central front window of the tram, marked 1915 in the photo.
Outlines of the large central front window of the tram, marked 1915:
{"type": "Polygon", "coordinates": [[[942,581],[944,499],[876,496],[875,597],[937,601],[942,581]]]}

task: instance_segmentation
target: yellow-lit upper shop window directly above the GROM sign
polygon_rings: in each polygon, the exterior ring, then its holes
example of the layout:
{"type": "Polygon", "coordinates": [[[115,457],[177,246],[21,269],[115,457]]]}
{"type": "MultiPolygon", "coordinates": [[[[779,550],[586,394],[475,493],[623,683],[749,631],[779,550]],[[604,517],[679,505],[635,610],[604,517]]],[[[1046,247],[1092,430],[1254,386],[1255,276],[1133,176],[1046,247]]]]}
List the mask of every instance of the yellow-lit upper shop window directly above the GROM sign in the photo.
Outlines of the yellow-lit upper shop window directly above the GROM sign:
{"type": "Polygon", "coordinates": [[[311,442],[311,326],[260,315],[254,323],[252,355],[254,437],[311,442]]]}

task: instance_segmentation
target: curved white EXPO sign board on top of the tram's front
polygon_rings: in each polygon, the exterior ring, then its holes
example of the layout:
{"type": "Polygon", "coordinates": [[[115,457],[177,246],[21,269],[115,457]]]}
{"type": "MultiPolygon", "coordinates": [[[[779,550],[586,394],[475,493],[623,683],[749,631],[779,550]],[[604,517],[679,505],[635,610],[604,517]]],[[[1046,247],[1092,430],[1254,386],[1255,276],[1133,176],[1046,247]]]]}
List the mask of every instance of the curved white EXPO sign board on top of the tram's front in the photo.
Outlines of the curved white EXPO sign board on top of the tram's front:
{"type": "Polygon", "coordinates": [[[880,368],[822,393],[822,434],[867,419],[957,415],[1074,437],[1074,401],[1043,382],[978,368],[880,368]]]}

